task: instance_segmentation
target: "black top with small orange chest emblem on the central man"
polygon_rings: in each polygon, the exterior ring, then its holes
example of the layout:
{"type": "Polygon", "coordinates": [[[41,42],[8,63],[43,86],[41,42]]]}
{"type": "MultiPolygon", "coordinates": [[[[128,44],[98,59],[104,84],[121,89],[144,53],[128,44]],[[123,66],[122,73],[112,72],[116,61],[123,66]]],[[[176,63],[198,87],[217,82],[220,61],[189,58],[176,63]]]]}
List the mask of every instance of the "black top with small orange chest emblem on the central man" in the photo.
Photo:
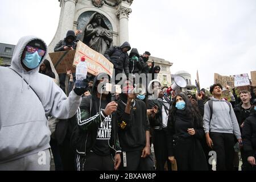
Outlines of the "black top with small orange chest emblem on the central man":
{"type": "Polygon", "coordinates": [[[125,113],[126,102],[117,101],[118,136],[122,151],[142,150],[146,146],[146,131],[150,130],[146,104],[135,100],[130,114],[125,113]]]}

